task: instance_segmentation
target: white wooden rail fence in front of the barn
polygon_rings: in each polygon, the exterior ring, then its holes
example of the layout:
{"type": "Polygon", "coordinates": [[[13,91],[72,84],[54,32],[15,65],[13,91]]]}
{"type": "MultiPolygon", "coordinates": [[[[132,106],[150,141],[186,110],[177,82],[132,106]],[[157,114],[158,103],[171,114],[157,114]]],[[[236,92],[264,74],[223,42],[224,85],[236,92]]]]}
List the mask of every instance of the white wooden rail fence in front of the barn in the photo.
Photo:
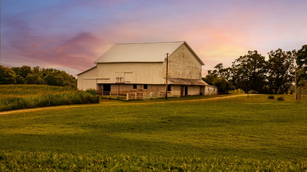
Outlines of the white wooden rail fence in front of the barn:
{"type": "MultiPolygon", "coordinates": [[[[165,97],[165,92],[102,92],[103,97],[124,100],[158,99],[165,97]]],[[[167,97],[180,97],[180,92],[167,92],[167,97]]]]}

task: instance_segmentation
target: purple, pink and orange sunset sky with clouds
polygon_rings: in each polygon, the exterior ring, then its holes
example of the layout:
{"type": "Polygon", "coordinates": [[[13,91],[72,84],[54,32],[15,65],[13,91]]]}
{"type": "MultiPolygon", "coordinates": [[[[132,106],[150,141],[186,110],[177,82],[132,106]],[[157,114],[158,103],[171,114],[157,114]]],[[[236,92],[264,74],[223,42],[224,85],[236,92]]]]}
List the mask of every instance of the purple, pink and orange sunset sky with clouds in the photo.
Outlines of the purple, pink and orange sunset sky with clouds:
{"type": "Polygon", "coordinates": [[[2,0],[0,65],[76,75],[115,43],[186,41],[204,70],[307,44],[306,0],[2,0]]]}

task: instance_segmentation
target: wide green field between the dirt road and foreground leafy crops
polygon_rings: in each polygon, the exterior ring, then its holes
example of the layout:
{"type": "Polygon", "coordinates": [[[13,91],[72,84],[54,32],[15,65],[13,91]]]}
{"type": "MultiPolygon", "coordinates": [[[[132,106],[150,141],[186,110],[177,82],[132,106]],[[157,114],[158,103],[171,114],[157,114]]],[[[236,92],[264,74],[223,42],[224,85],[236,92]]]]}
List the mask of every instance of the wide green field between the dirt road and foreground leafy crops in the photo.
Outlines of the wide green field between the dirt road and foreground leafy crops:
{"type": "Polygon", "coordinates": [[[0,151],[306,158],[307,98],[267,96],[2,114],[0,151]]]}

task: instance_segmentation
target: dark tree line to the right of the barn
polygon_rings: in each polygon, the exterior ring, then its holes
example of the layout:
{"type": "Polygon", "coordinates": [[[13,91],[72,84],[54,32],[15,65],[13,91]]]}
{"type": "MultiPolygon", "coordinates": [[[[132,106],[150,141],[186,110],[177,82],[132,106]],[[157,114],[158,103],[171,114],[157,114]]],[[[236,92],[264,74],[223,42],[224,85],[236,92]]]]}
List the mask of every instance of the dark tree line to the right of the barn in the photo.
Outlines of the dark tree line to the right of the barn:
{"type": "Polygon", "coordinates": [[[268,55],[268,60],[265,60],[257,51],[248,51],[232,62],[231,67],[224,68],[222,63],[217,64],[202,79],[209,85],[219,87],[220,92],[241,89],[245,93],[292,94],[290,88],[294,83],[296,62],[297,85],[307,90],[307,45],[298,51],[279,48],[268,55]]]}

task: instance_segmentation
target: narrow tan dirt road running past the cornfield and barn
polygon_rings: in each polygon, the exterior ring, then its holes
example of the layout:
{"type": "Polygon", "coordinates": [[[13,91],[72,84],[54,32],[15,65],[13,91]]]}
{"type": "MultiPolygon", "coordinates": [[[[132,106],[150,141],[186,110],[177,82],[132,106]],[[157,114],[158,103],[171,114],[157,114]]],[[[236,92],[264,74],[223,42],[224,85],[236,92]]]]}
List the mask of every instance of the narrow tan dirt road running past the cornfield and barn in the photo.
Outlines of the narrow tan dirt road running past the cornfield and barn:
{"type": "MultiPolygon", "coordinates": [[[[259,95],[259,94],[251,94],[251,95],[259,95]]],[[[250,96],[251,96],[250,95],[250,96]]],[[[157,104],[157,103],[176,103],[176,102],[196,102],[196,101],[204,101],[204,100],[213,100],[213,99],[227,99],[238,96],[246,96],[245,94],[239,95],[225,95],[223,97],[213,97],[207,99],[192,99],[192,100],[175,100],[175,101],[161,101],[161,102],[144,102],[144,103],[110,103],[110,104],[81,104],[81,105],[64,105],[64,106],[54,106],[54,107],[38,107],[33,109],[21,109],[21,110],[10,110],[5,112],[0,112],[2,114],[15,114],[22,112],[33,112],[38,110],[47,110],[47,109],[65,109],[65,108],[75,108],[75,107],[87,107],[87,106],[117,106],[117,105],[144,105],[144,104],[157,104]]]]}

